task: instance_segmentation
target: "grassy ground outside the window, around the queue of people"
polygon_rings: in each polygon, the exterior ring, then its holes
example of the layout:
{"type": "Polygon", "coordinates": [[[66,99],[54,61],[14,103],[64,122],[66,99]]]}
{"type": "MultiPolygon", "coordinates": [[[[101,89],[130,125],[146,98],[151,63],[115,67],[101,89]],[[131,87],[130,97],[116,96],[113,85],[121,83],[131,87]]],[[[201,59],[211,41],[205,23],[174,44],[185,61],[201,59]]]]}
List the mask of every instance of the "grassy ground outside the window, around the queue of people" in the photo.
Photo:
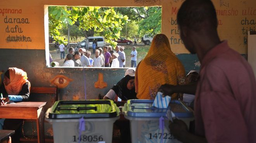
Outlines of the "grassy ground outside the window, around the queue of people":
{"type": "MultiPolygon", "coordinates": [[[[120,44],[121,45],[121,44],[120,44]]],[[[130,57],[130,54],[131,54],[131,50],[132,50],[132,47],[134,45],[121,45],[123,47],[125,47],[125,56],[126,56],[126,63],[125,63],[125,67],[131,67],[131,57],[130,57]]],[[[75,47],[75,45],[73,45],[72,47],[75,47]]],[[[137,65],[138,63],[144,59],[144,57],[147,55],[147,51],[149,50],[149,47],[150,45],[136,45],[136,50],[137,50],[137,65]]],[[[54,44],[49,44],[49,50],[50,50],[50,54],[52,55],[52,59],[54,62],[59,62],[59,66],[62,66],[63,65],[63,62],[64,62],[64,59],[61,59],[61,53],[57,53],[56,52],[56,48],[54,47],[54,44]]],[[[91,54],[91,58],[93,59],[95,57],[95,54],[93,54],[93,50],[92,49],[89,49],[92,54],[91,54]]],[[[114,49],[113,49],[114,50],[114,49]]],[[[67,49],[65,49],[65,54],[67,55],[67,49]]],[[[65,58],[66,58],[66,55],[65,55],[65,58]]]]}

